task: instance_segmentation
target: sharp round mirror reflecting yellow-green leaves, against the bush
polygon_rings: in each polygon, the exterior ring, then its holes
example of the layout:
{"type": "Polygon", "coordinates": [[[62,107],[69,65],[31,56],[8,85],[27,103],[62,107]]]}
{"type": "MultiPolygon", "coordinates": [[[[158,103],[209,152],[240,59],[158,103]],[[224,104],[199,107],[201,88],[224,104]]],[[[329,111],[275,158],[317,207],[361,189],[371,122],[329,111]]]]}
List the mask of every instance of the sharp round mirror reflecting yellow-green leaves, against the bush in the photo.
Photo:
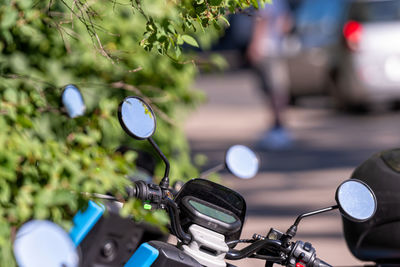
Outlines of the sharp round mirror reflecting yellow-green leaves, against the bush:
{"type": "Polygon", "coordinates": [[[119,104],[118,119],[133,138],[143,140],[156,130],[156,118],[151,107],[139,97],[129,96],[119,104]]]}

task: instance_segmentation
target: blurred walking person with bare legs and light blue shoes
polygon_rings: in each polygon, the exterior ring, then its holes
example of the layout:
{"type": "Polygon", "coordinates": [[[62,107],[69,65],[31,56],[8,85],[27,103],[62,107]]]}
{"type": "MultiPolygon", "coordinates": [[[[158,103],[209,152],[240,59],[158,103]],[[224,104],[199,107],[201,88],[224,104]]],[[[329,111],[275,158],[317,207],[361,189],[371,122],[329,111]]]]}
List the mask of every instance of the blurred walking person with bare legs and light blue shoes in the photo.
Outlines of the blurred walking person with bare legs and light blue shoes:
{"type": "Polygon", "coordinates": [[[290,8],[285,0],[275,0],[258,10],[255,17],[247,57],[273,115],[272,126],[263,134],[259,146],[283,149],[292,144],[292,137],[283,122],[289,81],[282,50],[283,39],[292,27],[290,8]]]}

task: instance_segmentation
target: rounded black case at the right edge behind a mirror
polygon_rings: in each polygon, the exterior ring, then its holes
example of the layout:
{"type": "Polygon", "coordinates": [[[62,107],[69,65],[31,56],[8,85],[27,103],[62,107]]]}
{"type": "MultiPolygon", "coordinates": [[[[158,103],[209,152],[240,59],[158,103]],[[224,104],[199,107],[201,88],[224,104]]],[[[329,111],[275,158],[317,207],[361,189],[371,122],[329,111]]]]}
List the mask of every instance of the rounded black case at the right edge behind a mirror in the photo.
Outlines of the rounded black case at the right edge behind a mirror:
{"type": "Polygon", "coordinates": [[[363,223],[343,217],[350,251],[364,261],[400,263],[400,149],[375,154],[355,169],[352,178],[371,187],[378,207],[363,223]]]}

